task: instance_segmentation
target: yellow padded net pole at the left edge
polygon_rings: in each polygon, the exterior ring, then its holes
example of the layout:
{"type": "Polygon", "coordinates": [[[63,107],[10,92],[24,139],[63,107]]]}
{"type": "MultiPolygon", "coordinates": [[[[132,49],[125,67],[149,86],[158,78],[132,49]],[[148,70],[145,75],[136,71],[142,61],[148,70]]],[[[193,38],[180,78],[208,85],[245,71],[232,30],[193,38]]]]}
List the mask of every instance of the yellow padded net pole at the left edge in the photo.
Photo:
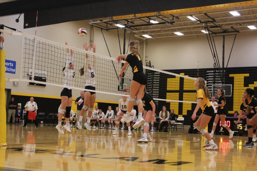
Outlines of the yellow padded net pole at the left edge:
{"type": "Polygon", "coordinates": [[[5,106],[5,50],[0,50],[0,146],[7,146],[5,106]]]}

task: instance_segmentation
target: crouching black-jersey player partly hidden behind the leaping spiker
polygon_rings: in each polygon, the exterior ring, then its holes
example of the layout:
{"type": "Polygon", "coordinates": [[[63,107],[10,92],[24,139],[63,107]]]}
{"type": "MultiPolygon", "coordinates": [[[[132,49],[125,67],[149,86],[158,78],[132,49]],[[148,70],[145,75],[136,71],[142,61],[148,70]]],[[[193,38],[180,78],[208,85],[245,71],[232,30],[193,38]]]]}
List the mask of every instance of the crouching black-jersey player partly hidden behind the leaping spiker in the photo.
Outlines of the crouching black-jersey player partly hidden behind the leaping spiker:
{"type": "Polygon", "coordinates": [[[142,102],[144,106],[144,134],[143,136],[137,140],[139,143],[147,143],[148,141],[152,141],[152,138],[149,134],[149,123],[152,121],[152,118],[155,117],[158,112],[158,107],[152,98],[152,96],[146,92],[146,88],[144,88],[144,94],[142,95],[142,102]]]}

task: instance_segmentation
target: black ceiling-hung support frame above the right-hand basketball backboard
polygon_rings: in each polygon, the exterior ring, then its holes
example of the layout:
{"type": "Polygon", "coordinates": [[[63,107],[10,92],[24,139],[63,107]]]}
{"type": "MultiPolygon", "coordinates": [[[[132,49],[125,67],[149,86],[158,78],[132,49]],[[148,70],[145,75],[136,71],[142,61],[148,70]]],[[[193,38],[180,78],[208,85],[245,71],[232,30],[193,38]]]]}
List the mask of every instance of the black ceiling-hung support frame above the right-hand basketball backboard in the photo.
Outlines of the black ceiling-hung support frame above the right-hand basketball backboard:
{"type": "MultiPolygon", "coordinates": [[[[231,53],[232,53],[232,50],[233,50],[233,46],[234,46],[234,43],[235,43],[235,40],[236,40],[236,36],[239,32],[239,30],[236,30],[234,27],[230,27],[230,29],[224,29],[222,28],[221,26],[215,24],[216,20],[212,17],[210,17],[208,14],[204,14],[206,17],[208,17],[208,21],[201,21],[197,18],[195,18],[194,16],[190,15],[191,17],[193,17],[194,19],[196,19],[198,22],[197,23],[204,23],[204,30],[205,30],[205,33],[206,33],[206,37],[207,37],[207,40],[208,40],[208,43],[209,43],[209,46],[210,46],[210,50],[211,50],[211,53],[212,53],[212,58],[214,60],[214,71],[218,71],[217,74],[218,74],[218,77],[220,79],[220,81],[222,82],[222,84],[225,83],[225,69],[228,67],[228,62],[230,60],[230,56],[231,56],[231,53]],[[213,27],[214,25],[214,27],[213,27]],[[213,31],[213,28],[215,29],[218,29],[218,31],[213,31]],[[215,37],[220,37],[222,36],[222,66],[220,66],[220,60],[219,60],[219,57],[218,57],[218,53],[217,53],[217,48],[216,48],[216,43],[215,43],[215,40],[214,38],[215,37]],[[226,68],[225,68],[225,64],[224,64],[224,61],[225,61],[225,37],[226,36],[234,36],[234,40],[233,40],[233,44],[232,44],[232,47],[231,47],[231,50],[230,50],[230,54],[229,54],[229,57],[228,57],[228,62],[227,62],[227,65],[226,65],[226,68]]],[[[216,72],[214,72],[215,74],[216,72]]],[[[216,82],[215,80],[215,76],[214,76],[214,84],[216,82]]]]}

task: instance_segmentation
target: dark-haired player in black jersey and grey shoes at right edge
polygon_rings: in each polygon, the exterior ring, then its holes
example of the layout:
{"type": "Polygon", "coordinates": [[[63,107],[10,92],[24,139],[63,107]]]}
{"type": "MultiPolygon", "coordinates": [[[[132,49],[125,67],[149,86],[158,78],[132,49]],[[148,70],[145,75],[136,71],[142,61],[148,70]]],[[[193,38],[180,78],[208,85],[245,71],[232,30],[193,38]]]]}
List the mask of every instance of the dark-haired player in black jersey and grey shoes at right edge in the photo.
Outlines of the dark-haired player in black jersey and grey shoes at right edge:
{"type": "Polygon", "coordinates": [[[253,89],[247,88],[244,91],[244,98],[245,103],[247,105],[247,111],[242,116],[242,119],[244,119],[246,116],[246,123],[247,123],[247,131],[248,131],[248,142],[243,145],[243,147],[252,147],[255,146],[255,144],[252,141],[252,135],[256,132],[257,127],[257,115],[256,115],[256,109],[257,109],[257,99],[252,97],[255,94],[255,91],[253,89]]]}

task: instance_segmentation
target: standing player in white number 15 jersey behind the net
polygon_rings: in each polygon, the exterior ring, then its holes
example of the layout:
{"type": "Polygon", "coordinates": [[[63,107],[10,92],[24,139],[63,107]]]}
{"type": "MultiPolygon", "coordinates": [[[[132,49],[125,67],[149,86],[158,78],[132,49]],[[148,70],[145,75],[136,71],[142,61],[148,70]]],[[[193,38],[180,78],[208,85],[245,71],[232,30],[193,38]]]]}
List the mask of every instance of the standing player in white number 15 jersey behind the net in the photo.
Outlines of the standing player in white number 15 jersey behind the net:
{"type": "MultiPolygon", "coordinates": [[[[123,93],[123,94],[127,95],[126,93],[123,93]]],[[[124,113],[127,112],[127,105],[128,105],[127,96],[122,96],[122,99],[119,100],[119,117],[116,121],[116,128],[115,128],[115,132],[113,132],[113,135],[118,134],[118,128],[120,125],[121,118],[123,117],[124,113]]],[[[131,121],[130,117],[128,117],[125,121],[128,127],[128,135],[132,134],[130,130],[130,121],[131,121]]]]}

